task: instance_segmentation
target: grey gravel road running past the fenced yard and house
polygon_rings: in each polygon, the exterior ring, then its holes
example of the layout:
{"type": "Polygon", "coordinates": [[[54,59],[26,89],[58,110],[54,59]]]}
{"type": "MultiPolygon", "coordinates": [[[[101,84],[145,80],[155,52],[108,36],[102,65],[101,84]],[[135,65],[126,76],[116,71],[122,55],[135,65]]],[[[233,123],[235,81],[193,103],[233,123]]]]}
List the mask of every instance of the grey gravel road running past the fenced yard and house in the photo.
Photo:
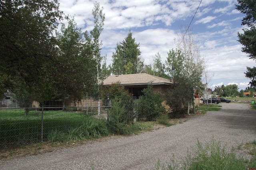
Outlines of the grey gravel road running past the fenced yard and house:
{"type": "Polygon", "coordinates": [[[172,156],[182,164],[197,139],[212,137],[232,146],[256,140],[256,111],[244,103],[220,103],[211,111],[182,124],[133,136],[112,137],[101,142],[55,150],[14,160],[1,160],[1,170],[150,170],[158,159],[169,164],[172,156]],[[92,168],[93,167],[93,168],[92,168]]]}

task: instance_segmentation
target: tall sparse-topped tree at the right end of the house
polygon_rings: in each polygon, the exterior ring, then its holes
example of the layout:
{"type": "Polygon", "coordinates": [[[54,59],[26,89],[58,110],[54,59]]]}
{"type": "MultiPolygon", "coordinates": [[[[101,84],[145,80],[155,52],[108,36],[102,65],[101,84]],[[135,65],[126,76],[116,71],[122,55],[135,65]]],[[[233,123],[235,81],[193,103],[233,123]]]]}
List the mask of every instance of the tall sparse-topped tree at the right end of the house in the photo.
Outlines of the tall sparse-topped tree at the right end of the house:
{"type": "MultiPolygon", "coordinates": [[[[194,39],[194,34],[191,29],[184,32],[181,27],[181,32],[176,42],[177,48],[170,50],[166,60],[166,71],[174,81],[174,87],[169,89],[166,99],[168,105],[174,109],[174,112],[183,112],[179,108],[189,106],[194,102],[194,88],[202,87],[202,73],[205,69],[205,62],[200,56],[199,47],[194,39]],[[172,69],[175,69],[173,75],[172,69]],[[182,90],[181,90],[182,89],[182,90]],[[180,102],[176,102],[175,97],[180,98],[180,102]],[[187,104],[186,104],[187,103],[187,104]]],[[[189,107],[187,107],[189,109],[189,107]]],[[[189,111],[189,110],[188,110],[189,111]]],[[[173,114],[176,114],[174,113],[173,114]]],[[[189,113],[188,113],[189,114],[189,113]]]]}

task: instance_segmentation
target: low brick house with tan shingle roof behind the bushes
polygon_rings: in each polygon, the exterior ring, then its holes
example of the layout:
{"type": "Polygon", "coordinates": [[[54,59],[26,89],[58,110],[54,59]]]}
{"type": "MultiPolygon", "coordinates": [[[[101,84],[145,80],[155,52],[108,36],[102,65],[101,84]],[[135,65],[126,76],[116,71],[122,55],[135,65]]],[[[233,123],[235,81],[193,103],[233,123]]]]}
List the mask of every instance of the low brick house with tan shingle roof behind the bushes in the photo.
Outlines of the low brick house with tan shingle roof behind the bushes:
{"type": "Polygon", "coordinates": [[[142,90],[148,85],[154,85],[154,93],[161,92],[164,94],[166,89],[173,85],[169,79],[162,77],[157,77],[154,75],[149,75],[147,73],[137,73],[137,74],[125,74],[125,75],[111,75],[103,81],[104,86],[112,86],[116,83],[124,86],[124,89],[128,90],[134,97],[138,99],[142,95],[142,90]]]}

